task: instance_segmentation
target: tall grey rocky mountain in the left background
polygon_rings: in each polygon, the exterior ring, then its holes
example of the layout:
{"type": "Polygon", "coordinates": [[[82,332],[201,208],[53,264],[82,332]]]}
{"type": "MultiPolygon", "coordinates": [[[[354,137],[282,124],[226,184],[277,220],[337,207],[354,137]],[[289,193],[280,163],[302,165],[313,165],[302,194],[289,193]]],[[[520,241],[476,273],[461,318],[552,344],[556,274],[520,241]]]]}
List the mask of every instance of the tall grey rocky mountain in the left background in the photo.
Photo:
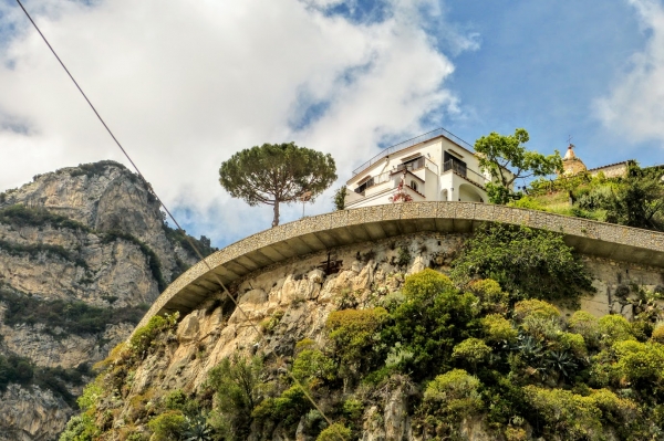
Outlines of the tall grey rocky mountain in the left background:
{"type": "Polygon", "coordinates": [[[55,439],[90,367],[196,261],[149,185],[117,162],[0,193],[0,440],[55,439]]]}

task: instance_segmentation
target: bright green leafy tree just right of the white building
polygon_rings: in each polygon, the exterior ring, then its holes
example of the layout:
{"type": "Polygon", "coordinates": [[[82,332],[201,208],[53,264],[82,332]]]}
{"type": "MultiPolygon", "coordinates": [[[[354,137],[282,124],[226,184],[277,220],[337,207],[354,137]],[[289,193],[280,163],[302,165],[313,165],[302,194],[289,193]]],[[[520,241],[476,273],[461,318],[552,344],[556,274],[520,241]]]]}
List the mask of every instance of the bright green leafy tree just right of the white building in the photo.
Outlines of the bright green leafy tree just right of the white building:
{"type": "Polygon", "coordinates": [[[562,170],[562,158],[558,150],[549,156],[527,150],[523,144],[529,139],[525,128],[517,128],[513,135],[491,132],[475,141],[479,166],[495,179],[495,182],[487,185],[487,193],[492,203],[507,203],[513,199],[510,187],[517,179],[547,176],[562,170]],[[508,168],[513,175],[507,171],[508,168]]]}

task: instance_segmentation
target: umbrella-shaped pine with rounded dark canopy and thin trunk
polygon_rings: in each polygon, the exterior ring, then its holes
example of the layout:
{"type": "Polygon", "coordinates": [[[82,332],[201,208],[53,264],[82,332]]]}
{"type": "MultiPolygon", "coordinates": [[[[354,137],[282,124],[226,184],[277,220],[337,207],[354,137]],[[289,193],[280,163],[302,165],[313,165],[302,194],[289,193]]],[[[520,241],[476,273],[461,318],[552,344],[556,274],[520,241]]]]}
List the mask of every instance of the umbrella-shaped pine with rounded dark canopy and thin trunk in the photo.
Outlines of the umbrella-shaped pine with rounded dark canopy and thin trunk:
{"type": "Polygon", "coordinates": [[[279,224],[279,204],[290,203],[305,192],[311,201],[336,180],[330,154],[293,143],[263,144],[238,151],[219,168],[219,182],[234,198],[250,206],[274,207],[272,227],[279,224]]]}

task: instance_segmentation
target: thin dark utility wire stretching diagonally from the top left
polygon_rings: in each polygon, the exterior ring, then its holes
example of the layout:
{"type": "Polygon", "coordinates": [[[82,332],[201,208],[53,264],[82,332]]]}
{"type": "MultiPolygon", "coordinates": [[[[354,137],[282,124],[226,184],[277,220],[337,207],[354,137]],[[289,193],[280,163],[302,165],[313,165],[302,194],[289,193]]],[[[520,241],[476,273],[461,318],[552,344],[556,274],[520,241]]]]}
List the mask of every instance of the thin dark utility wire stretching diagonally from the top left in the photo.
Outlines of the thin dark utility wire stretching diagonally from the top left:
{"type": "MultiPolygon", "coordinates": [[[[30,20],[30,22],[32,23],[32,25],[34,27],[34,29],[37,30],[37,32],[41,35],[41,38],[44,41],[44,43],[46,43],[46,45],[51,50],[51,53],[55,56],[55,59],[58,60],[58,62],[60,63],[60,65],[62,66],[62,69],[64,69],[64,72],[66,72],[66,74],[69,75],[69,77],[72,80],[72,82],[74,83],[74,85],[79,90],[79,92],[81,92],[81,95],[83,95],[83,98],[85,98],[85,102],[90,105],[90,107],[92,108],[92,112],[94,112],[94,114],[100,119],[100,122],[102,123],[102,125],[104,126],[104,128],[106,129],[106,132],[108,132],[108,135],[111,135],[111,137],[113,138],[113,140],[115,141],[115,144],[117,145],[117,147],[120,147],[120,149],[122,150],[122,153],[124,154],[124,156],[132,164],[132,166],[134,167],[134,169],[136,170],[136,172],[138,174],[138,176],[141,177],[141,179],[143,179],[143,181],[147,185],[148,191],[151,191],[154,195],[154,197],[157,199],[157,201],[159,202],[159,204],[164,208],[164,210],[166,211],[166,213],[168,213],[168,217],[173,220],[173,222],[176,224],[176,227],[178,229],[183,230],[183,228],[177,222],[177,220],[175,219],[175,217],[170,213],[170,211],[168,210],[168,208],[166,207],[166,204],[162,201],[162,199],[157,196],[156,191],[147,182],[147,180],[145,179],[145,177],[143,176],[143,174],[141,172],[141,170],[136,166],[136,164],[132,160],[132,158],[129,157],[129,155],[127,154],[127,151],[125,150],[125,148],[122,146],[122,144],[120,144],[120,141],[117,140],[117,138],[115,137],[115,135],[113,135],[113,132],[111,132],[111,128],[106,125],[106,123],[104,122],[104,119],[102,118],[102,116],[100,115],[100,113],[97,112],[97,109],[94,107],[94,105],[92,104],[92,102],[90,101],[90,98],[87,98],[87,95],[85,95],[85,92],[83,92],[83,90],[81,88],[81,86],[79,85],[79,83],[76,82],[76,80],[74,80],[74,76],[71,74],[71,72],[69,71],[69,69],[66,69],[66,66],[64,65],[64,63],[62,62],[62,60],[60,59],[60,56],[58,56],[58,53],[55,53],[55,50],[53,49],[53,46],[51,45],[51,43],[49,43],[49,40],[46,40],[46,38],[42,33],[42,31],[39,29],[39,27],[34,22],[34,20],[32,20],[32,17],[30,17],[30,13],[28,13],[28,11],[25,10],[25,8],[23,7],[23,3],[21,3],[21,0],[17,0],[17,3],[19,3],[19,6],[23,10],[23,12],[25,13],[25,17],[28,17],[28,20],[30,20]]],[[[191,245],[191,248],[194,249],[194,251],[196,251],[196,254],[198,255],[198,259],[200,259],[200,261],[204,262],[205,265],[207,266],[208,271],[210,273],[212,273],[212,275],[217,280],[217,283],[219,284],[219,286],[221,286],[221,290],[224,291],[224,293],[232,301],[232,303],[235,304],[236,308],[239,309],[242,313],[242,315],[245,316],[245,319],[247,322],[249,322],[251,328],[253,328],[253,330],[256,330],[256,333],[259,336],[259,340],[264,339],[263,333],[261,333],[260,329],[256,326],[256,324],[253,324],[253,322],[251,322],[251,319],[249,318],[249,316],[247,315],[247,313],[239,305],[238,301],[232,296],[232,294],[230,294],[230,292],[228,291],[228,288],[226,287],[226,285],[224,284],[224,282],[221,282],[221,279],[219,279],[219,275],[217,275],[217,273],[215,273],[212,271],[212,267],[207,262],[207,260],[203,256],[203,254],[198,250],[198,246],[196,246],[196,244],[194,243],[194,241],[191,240],[191,238],[189,238],[188,234],[185,234],[185,239],[187,240],[187,242],[189,242],[189,244],[191,245]]],[[[332,421],[325,416],[325,413],[320,408],[320,406],[313,400],[313,398],[307,391],[307,389],[304,388],[304,386],[302,386],[302,384],[295,377],[293,377],[292,372],[290,372],[288,369],[287,369],[287,372],[288,372],[288,376],[291,378],[291,380],[295,385],[298,385],[300,387],[300,389],[302,390],[302,392],[304,393],[304,396],[309,399],[309,401],[313,405],[313,407],[325,419],[325,421],[328,422],[328,426],[332,426],[332,421]]],[[[340,435],[340,438],[341,438],[341,435],[340,435]]]]}

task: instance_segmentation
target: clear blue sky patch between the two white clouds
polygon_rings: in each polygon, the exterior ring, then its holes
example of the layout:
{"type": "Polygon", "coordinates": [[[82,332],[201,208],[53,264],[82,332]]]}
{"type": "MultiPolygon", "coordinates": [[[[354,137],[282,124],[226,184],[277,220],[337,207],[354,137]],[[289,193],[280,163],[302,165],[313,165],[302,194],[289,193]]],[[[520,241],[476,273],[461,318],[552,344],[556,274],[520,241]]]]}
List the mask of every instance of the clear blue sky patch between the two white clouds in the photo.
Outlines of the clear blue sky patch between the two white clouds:
{"type": "Polygon", "coordinates": [[[449,86],[476,118],[452,130],[483,133],[526,127],[532,148],[566,147],[568,136],[589,166],[635,158],[664,162],[662,141],[615,136],[593,113],[642,51],[649,32],[634,8],[608,2],[458,2],[449,19],[481,35],[481,48],[454,59],[449,86]]]}

